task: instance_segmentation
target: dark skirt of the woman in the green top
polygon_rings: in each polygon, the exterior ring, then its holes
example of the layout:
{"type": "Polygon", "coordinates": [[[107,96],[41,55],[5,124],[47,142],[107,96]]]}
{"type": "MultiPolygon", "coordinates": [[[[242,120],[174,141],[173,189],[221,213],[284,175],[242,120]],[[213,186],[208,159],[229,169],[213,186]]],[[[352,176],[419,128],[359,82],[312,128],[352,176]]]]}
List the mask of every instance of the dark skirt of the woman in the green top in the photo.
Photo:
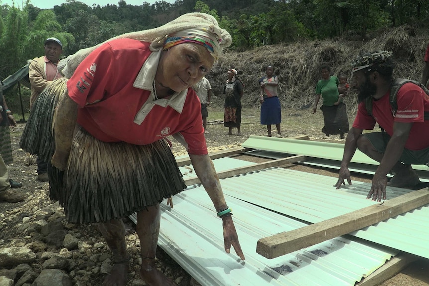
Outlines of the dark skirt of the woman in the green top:
{"type": "Polygon", "coordinates": [[[344,134],[349,130],[347,112],[344,103],[321,107],[323,111],[324,127],[322,132],[326,135],[344,134]]]}

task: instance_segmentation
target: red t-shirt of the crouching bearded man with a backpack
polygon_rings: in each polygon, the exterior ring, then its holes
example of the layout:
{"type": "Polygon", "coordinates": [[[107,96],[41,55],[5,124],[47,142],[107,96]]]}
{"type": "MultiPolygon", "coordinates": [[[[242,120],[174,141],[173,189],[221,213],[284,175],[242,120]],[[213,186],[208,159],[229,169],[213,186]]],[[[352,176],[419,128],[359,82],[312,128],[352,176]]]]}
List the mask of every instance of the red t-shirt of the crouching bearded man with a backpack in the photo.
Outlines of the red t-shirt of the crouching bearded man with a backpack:
{"type": "Polygon", "coordinates": [[[424,111],[429,111],[429,98],[425,92],[413,83],[404,84],[397,94],[398,110],[395,117],[389,103],[389,92],[377,101],[373,101],[372,114],[368,114],[365,102],[359,103],[353,127],[372,130],[375,123],[380,124],[390,136],[393,135],[393,123],[414,123],[411,127],[405,148],[421,150],[429,146],[429,121],[423,120],[424,111]]]}

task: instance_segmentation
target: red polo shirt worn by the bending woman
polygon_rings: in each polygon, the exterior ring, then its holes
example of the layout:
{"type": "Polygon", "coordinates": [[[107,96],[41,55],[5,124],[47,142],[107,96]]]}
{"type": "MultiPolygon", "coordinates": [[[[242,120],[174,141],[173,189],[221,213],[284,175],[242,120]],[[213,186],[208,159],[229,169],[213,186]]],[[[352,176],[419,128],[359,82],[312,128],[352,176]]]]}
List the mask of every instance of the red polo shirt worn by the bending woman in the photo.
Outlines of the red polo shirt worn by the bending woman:
{"type": "Polygon", "coordinates": [[[181,94],[186,98],[180,113],[169,105],[154,103],[151,91],[133,87],[152,53],[149,45],[132,39],[113,40],[79,64],[67,83],[70,98],[80,107],[78,123],[101,141],[136,145],[180,132],[188,153],[207,154],[201,104],[193,89],[181,94]],[[145,116],[141,124],[134,122],[139,112],[145,116]]]}

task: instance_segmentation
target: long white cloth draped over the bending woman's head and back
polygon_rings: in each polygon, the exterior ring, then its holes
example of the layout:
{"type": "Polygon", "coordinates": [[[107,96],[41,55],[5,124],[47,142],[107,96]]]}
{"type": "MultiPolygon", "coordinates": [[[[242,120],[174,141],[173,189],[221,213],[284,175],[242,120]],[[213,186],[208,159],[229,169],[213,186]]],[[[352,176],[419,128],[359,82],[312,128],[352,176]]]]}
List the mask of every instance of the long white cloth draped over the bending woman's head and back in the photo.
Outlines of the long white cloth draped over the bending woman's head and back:
{"type": "Polygon", "coordinates": [[[212,37],[217,39],[218,45],[215,45],[214,49],[217,56],[220,55],[223,48],[229,47],[232,43],[231,35],[226,30],[219,27],[219,24],[213,16],[205,13],[188,13],[161,27],[119,35],[94,47],[79,50],[75,54],[61,60],[58,64],[58,69],[62,71],[64,76],[70,78],[77,66],[82,62],[83,59],[85,59],[85,57],[87,57],[98,46],[113,39],[130,38],[144,42],[150,42],[152,43],[150,45],[151,50],[155,51],[162,47],[168,35],[192,28],[206,28],[208,31],[210,31],[212,37]]]}

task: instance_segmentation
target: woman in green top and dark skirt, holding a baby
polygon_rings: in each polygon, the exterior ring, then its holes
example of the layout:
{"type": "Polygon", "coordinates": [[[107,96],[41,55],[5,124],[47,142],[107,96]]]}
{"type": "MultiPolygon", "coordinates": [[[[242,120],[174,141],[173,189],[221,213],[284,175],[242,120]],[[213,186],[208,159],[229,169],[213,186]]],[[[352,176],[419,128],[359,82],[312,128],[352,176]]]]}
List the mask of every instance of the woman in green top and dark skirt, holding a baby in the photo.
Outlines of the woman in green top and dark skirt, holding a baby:
{"type": "Polygon", "coordinates": [[[349,124],[345,104],[343,102],[335,105],[339,98],[338,84],[339,80],[335,76],[330,76],[330,67],[322,65],[322,79],[316,85],[316,98],[313,107],[313,113],[316,113],[316,108],[319,103],[320,96],[323,98],[324,126],[322,132],[329,136],[331,134],[339,134],[341,139],[344,139],[344,133],[348,132],[349,124]]]}

